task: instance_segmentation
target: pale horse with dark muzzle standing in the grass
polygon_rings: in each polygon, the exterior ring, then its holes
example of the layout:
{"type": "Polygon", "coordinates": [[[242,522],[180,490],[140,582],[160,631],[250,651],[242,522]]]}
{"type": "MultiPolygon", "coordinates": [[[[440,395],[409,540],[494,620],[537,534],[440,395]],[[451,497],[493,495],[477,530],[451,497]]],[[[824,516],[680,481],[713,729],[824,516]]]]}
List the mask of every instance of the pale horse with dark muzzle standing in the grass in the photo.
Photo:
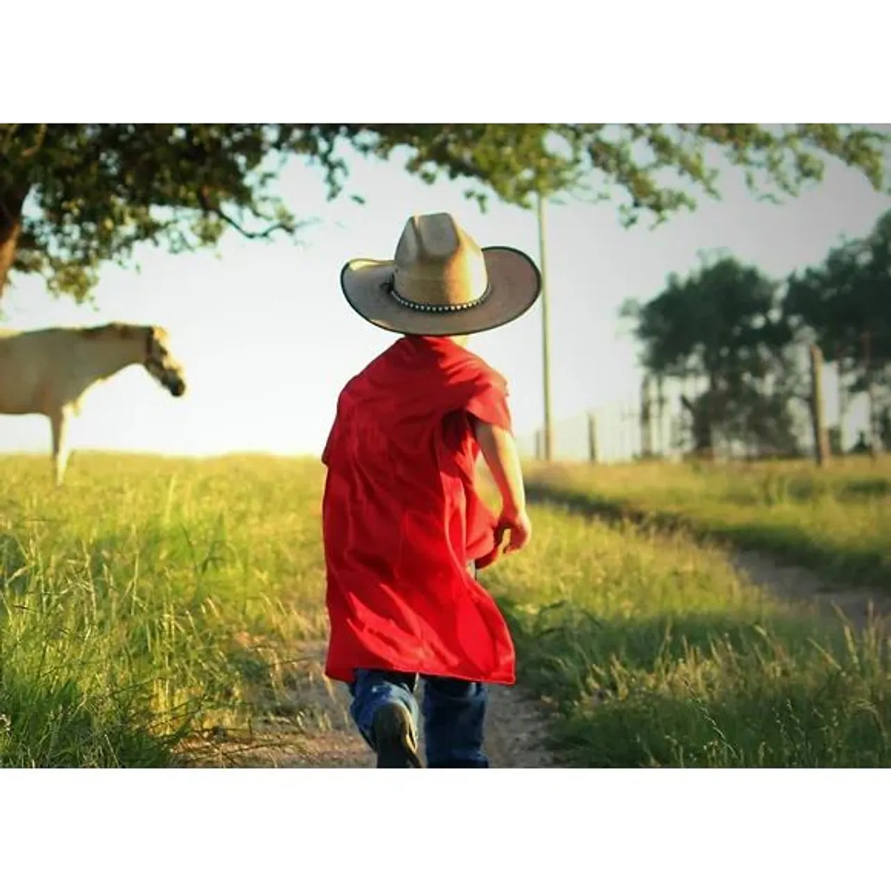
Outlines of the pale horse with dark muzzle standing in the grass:
{"type": "Polygon", "coordinates": [[[86,391],[129,365],[143,365],[172,396],[185,392],[183,367],[154,325],[0,329],[0,414],[43,414],[53,430],[53,470],[61,486],[69,459],[66,430],[86,391]]]}

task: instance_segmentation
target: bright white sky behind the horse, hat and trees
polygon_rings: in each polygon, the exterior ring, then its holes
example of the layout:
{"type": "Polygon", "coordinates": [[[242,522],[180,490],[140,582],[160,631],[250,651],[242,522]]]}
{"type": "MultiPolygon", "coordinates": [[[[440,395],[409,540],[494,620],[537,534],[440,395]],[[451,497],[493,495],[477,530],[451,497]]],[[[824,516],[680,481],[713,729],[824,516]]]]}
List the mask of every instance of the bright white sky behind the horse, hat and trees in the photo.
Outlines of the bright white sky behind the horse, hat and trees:
{"type": "MultiPolygon", "coordinates": [[[[392,337],[364,323],[339,291],[351,257],[388,257],[412,213],[449,210],[481,244],[511,244],[537,256],[535,216],[493,205],[484,215],[460,184],[428,186],[396,164],[354,159],[348,192],[367,199],[327,203],[317,169],[292,163],[280,191],[299,217],[318,217],[305,246],[260,244],[229,234],[211,252],[171,257],[144,249],[142,273],[109,266],[98,310],[45,294],[18,278],[3,300],[4,326],[166,325],[184,361],[189,392],[176,400],[142,369],[96,388],[72,429],[75,447],[168,454],[266,451],[318,454],[339,389],[392,337]]],[[[698,252],[729,249],[772,275],[822,260],[843,236],[866,233],[891,208],[859,174],[830,168],[824,183],[777,207],[749,197],[740,177],[722,182],[721,202],[702,200],[655,232],[630,231],[615,206],[552,207],[547,274],[552,306],[552,395],[556,420],[634,393],[635,347],[618,337],[627,297],[655,296],[672,272],[699,263],[698,252]]],[[[541,423],[540,311],[479,335],[471,348],[511,380],[518,431],[541,423]]],[[[862,423],[854,416],[854,426],[862,423]]],[[[43,418],[0,417],[0,449],[45,451],[43,418]]]]}

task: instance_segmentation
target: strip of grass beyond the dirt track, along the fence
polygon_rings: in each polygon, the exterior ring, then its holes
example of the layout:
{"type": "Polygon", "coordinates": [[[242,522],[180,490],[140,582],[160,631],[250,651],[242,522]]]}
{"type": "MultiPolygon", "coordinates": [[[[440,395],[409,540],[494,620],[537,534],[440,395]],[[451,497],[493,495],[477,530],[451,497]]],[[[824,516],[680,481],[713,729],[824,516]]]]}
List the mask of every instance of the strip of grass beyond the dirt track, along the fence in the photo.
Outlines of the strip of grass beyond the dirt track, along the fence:
{"type": "Polygon", "coordinates": [[[533,467],[534,491],[600,515],[630,513],[891,589],[891,457],[731,467],[662,462],[533,467]]]}

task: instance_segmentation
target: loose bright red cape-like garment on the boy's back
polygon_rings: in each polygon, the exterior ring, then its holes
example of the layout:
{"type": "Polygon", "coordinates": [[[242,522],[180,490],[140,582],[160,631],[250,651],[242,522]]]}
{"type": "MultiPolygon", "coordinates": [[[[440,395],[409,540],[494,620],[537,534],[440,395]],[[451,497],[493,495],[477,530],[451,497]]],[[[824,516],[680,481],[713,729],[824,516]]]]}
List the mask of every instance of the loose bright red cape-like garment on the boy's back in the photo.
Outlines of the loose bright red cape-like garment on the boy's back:
{"type": "Polygon", "coordinates": [[[507,386],[446,338],[397,340],[340,394],[322,456],[329,677],[514,683],[511,634],[467,570],[497,556],[470,415],[510,430],[507,386]]]}

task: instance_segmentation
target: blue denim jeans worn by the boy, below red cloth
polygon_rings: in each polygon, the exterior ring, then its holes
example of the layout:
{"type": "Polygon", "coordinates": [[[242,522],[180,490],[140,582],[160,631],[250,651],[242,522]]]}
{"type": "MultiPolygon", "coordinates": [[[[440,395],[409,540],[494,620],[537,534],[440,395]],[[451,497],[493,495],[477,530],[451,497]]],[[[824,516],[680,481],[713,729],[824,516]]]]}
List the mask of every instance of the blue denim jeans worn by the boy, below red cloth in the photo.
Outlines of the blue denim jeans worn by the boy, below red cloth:
{"type": "MultiPolygon", "coordinates": [[[[476,567],[470,563],[470,575],[476,567]]],[[[478,681],[422,675],[424,697],[421,704],[424,743],[428,767],[488,767],[483,752],[486,720],[486,687],[478,681]]],[[[404,705],[415,727],[419,723],[414,691],[417,674],[359,668],[349,684],[353,697],[350,715],[364,740],[372,744],[372,720],[380,706],[388,702],[404,705]]]]}

